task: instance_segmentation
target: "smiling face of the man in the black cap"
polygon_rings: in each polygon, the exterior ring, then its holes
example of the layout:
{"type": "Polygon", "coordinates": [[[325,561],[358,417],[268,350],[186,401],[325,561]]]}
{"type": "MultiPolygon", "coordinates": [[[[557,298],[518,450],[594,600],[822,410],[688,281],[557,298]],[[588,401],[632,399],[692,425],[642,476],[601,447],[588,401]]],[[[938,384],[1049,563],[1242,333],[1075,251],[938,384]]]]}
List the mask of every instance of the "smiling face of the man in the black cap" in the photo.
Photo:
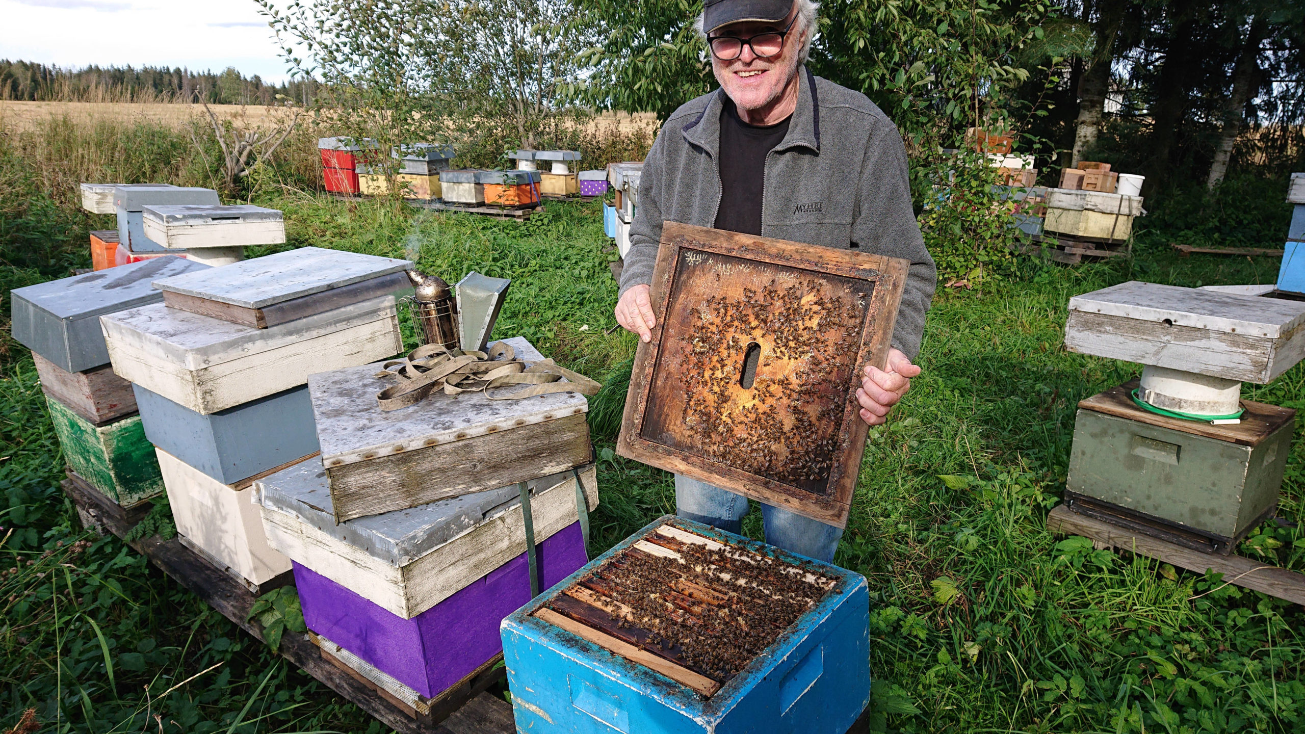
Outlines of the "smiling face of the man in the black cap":
{"type": "MultiPolygon", "coordinates": [[[[761,33],[779,33],[793,21],[795,16],[796,8],[778,24],[743,21],[722,26],[711,35],[750,38],[761,33]]],[[[739,57],[731,61],[711,55],[711,71],[736,106],[743,110],[757,110],[779,98],[784,86],[797,73],[797,51],[803,42],[801,33],[793,33],[797,30],[792,27],[784,37],[783,50],[769,59],[758,57],[746,44],[739,57]]]]}

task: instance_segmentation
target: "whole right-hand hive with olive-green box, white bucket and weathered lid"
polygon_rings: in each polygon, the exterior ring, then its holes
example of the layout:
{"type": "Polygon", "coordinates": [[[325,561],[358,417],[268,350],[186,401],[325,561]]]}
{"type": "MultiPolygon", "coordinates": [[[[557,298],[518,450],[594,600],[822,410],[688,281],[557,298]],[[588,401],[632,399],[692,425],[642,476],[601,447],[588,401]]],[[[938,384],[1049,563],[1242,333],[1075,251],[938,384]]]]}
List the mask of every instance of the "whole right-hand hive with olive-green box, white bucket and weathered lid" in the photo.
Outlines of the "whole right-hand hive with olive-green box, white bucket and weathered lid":
{"type": "Polygon", "coordinates": [[[1065,346],[1144,366],[1079,402],[1071,509],[1228,552],[1274,511],[1295,410],[1241,400],[1305,355],[1305,303],[1126,282],[1070,299],[1065,346]]]}

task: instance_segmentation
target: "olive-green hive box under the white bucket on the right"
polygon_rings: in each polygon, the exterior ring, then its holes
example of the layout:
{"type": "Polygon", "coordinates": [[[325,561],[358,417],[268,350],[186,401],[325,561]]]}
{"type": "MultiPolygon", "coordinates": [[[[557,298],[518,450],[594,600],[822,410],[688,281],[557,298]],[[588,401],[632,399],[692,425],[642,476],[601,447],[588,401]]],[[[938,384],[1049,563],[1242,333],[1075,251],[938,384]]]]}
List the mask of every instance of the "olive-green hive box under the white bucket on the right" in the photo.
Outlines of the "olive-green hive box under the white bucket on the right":
{"type": "Polygon", "coordinates": [[[1133,402],[1137,384],[1078,404],[1070,509],[1229,552],[1278,507],[1296,411],[1244,400],[1237,424],[1168,418],[1133,402]]]}

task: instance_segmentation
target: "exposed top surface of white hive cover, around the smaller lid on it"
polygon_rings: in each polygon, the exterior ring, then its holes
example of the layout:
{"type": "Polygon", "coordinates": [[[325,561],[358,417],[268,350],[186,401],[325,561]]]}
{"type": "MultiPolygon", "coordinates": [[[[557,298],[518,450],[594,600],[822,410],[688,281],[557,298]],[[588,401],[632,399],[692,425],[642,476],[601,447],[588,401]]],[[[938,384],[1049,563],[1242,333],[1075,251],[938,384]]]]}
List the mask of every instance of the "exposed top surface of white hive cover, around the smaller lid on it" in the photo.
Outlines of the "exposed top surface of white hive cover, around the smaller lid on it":
{"type": "MultiPolygon", "coordinates": [[[[232,266],[223,265],[223,268],[232,266]]],[[[214,268],[214,270],[221,269],[214,268]]],[[[367,324],[393,312],[394,296],[384,295],[266,329],[256,329],[153,303],[102,316],[100,325],[107,338],[134,342],[159,359],[185,370],[202,370],[367,324]]]]}

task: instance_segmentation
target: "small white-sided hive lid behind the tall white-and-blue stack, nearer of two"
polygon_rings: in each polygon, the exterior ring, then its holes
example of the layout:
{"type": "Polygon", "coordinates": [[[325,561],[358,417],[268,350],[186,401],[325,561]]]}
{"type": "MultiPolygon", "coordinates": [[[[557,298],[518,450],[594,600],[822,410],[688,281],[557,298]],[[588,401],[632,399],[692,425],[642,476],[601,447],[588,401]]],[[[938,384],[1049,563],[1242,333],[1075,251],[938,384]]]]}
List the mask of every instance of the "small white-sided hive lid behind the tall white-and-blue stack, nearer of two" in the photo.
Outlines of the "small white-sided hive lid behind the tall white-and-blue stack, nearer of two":
{"type": "Polygon", "coordinates": [[[245,247],[286,242],[286,223],[277,209],[183,204],[145,206],[141,214],[145,236],[153,243],[185,251],[205,265],[239,263],[245,247]]]}

